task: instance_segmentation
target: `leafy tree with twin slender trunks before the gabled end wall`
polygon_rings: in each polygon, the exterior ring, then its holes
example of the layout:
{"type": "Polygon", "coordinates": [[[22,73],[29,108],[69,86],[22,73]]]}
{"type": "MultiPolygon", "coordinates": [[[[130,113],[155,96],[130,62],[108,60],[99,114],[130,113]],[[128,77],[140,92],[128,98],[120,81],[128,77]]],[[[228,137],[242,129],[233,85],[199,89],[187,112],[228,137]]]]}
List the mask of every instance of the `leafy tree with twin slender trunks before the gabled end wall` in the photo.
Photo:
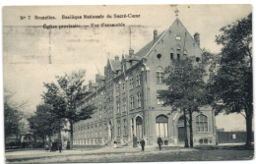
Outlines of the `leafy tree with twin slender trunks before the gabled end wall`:
{"type": "Polygon", "coordinates": [[[170,105],[172,111],[181,110],[185,127],[185,147],[188,147],[186,114],[189,115],[190,146],[193,147],[193,112],[198,112],[199,107],[205,105],[204,95],[206,83],[203,80],[205,69],[202,64],[193,62],[193,58],[174,60],[172,65],[166,68],[166,79],[168,86],[163,90],[162,97],[164,105],[170,105]]]}

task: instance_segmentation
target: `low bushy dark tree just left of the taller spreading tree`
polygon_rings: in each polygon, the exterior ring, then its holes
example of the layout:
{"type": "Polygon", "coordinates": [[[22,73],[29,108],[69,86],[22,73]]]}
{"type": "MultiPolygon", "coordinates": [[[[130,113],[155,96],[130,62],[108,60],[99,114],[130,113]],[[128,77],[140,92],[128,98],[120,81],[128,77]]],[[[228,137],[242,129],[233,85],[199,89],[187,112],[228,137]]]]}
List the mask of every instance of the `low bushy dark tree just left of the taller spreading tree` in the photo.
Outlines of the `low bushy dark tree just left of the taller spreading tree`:
{"type": "Polygon", "coordinates": [[[50,105],[37,105],[34,115],[28,119],[33,137],[42,138],[45,144],[46,137],[50,137],[58,125],[55,118],[50,105]]]}

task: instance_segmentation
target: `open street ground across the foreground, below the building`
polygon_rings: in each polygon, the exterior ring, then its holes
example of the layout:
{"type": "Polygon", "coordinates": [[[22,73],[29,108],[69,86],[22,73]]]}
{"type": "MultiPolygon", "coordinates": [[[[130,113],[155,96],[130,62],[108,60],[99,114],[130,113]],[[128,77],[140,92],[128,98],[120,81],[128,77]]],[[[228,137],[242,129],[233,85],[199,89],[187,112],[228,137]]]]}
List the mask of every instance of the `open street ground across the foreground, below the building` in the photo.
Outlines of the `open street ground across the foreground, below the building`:
{"type": "Polygon", "coordinates": [[[158,161],[216,161],[250,160],[253,149],[241,145],[219,147],[140,147],[63,150],[62,153],[45,150],[22,150],[6,152],[9,163],[96,163],[96,162],[158,162],[158,161]]]}

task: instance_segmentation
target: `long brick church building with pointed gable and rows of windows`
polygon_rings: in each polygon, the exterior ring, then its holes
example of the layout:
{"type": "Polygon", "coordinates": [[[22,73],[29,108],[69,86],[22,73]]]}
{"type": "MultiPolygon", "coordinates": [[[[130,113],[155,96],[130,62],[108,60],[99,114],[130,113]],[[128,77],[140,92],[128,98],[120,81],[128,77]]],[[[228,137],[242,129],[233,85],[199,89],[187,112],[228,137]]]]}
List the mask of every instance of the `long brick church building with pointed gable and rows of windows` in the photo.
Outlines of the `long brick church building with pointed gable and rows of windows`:
{"type": "MultiPolygon", "coordinates": [[[[157,144],[158,137],[164,145],[184,144],[182,113],[162,106],[160,90],[167,88],[163,70],[172,60],[187,57],[200,63],[202,53],[199,33],[192,37],[176,19],[160,34],[154,30],[153,40],[137,53],[130,49],[121,59],[108,59],[104,76],[96,75],[96,82],[89,83],[86,89],[92,93],[78,106],[94,104],[96,112],[74,125],[74,145],[131,145],[133,137],[143,137],[146,144],[157,144]]],[[[210,107],[193,113],[194,144],[216,144],[215,126],[210,107]]]]}

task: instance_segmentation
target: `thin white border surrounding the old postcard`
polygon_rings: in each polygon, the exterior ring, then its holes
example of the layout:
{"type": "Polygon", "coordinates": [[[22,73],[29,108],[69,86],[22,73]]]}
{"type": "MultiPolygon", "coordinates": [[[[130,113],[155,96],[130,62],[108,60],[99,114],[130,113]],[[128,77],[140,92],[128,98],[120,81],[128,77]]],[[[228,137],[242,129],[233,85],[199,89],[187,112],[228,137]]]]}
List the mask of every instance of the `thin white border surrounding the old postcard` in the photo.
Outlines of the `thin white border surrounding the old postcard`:
{"type": "MultiPolygon", "coordinates": [[[[3,12],[3,6],[34,6],[34,5],[150,5],[150,4],[255,4],[255,0],[210,0],[210,1],[205,1],[205,0],[197,0],[197,1],[191,1],[191,0],[172,0],[172,1],[168,1],[168,0],[148,0],[148,1],[144,1],[144,0],[130,0],[130,1],[120,1],[120,0],[96,0],[96,1],[89,1],[89,0],[43,0],[43,1],[34,1],[34,0],[1,0],[0,1],[0,5],[1,5],[1,9],[2,11],[0,12],[0,17],[1,17],[1,22],[0,22],[0,27],[2,29],[2,12],[3,12]]],[[[254,19],[254,12],[253,12],[253,23],[255,21],[254,19]]],[[[253,31],[255,29],[255,26],[253,26],[253,31]]],[[[3,31],[3,30],[1,30],[3,31]]],[[[0,34],[1,37],[1,50],[3,53],[3,37],[2,37],[2,32],[0,34]]],[[[253,41],[253,47],[255,47],[255,41],[253,41]]],[[[1,53],[1,54],[2,54],[1,53]]],[[[3,64],[3,56],[0,58],[0,62],[1,65],[3,64]]],[[[255,61],[255,60],[254,60],[255,61]]],[[[255,64],[255,63],[254,63],[255,64]]],[[[253,73],[253,77],[255,77],[255,71],[253,73]]],[[[0,81],[0,91],[2,92],[2,94],[0,94],[0,103],[2,104],[2,108],[3,109],[3,66],[1,66],[1,81],[0,81]]],[[[254,87],[254,92],[255,93],[255,87],[254,87]]],[[[255,95],[255,94],[254,94],[255,95]]],[[[254,101],[256,100],[255,96],[254,96],[254,101]]],[[[5,158],[4,158],[4,124],[3,124],[3,110],[1,111],[2,113],[0,114],[0,120],[1,120],[1,126],[0,126],[0,140],[1,140],[1,146],[0,146],[0,163],[4,163],[5,162],[5,158]]],[[[255,112],[254,112],[255,113],[255,112]]],[[[254,114],[255,116],[255,114],[254,114]]],[[[254,117],[255,118],[255,117],[254,117]]],[[[254,125],[255,125],[255,121],[254,121],[254,125]]],[[[254,126],[255,127],[255,126],[254,126]]],[[[255,138],[255,136],[254,136],[255,138]]],[[[255,139],[254,139],[255,140],[255,139]]],[[[234,163],[234,164],[240,164],[240,163],[255,163],[255,158],[254,160],[251,161],[216,161],[218,163],[234,163]]],[[[200,163],[216,163],[216,162],[200,162],[200,163]]],[[[152,163],[152,162],[150,162],[152,163]]],[[[161,162],[161,163],[168,163],[168,162],[161,162]]],[[[179,162],[180,163],[180,162],[179,162]]],[[[184,162],[181,162],[184,163],[184,162]]],[[[198,163],[198,162],[189,162],[189,163],[198,163]]]]}

